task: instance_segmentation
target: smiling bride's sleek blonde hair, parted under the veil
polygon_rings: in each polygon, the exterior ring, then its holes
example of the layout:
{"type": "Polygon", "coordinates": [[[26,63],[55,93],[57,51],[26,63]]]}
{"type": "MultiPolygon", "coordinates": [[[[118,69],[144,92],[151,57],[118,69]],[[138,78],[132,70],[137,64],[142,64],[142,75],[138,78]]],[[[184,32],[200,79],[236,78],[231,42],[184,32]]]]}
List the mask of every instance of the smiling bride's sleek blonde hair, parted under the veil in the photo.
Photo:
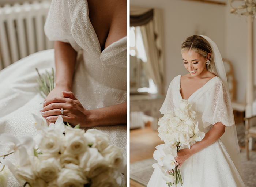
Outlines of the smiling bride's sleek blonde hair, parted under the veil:
{"type": "Polygon", "coordinates": [[[210,66],[206,66],[207,70],[214,75],[218,76],[216,66],[213,59],[213,52],[211,49],[210,43],[204,39],[204,37],[199,35],[193,35],[185,39],[185,41],[182,43],[181,46],[181,54],[184,52],[187,52],[189,50],[193,50],[196,53],[200,54],[200,56],[207,58],[208,53],[211,53],[210,55],[210,66]]]}

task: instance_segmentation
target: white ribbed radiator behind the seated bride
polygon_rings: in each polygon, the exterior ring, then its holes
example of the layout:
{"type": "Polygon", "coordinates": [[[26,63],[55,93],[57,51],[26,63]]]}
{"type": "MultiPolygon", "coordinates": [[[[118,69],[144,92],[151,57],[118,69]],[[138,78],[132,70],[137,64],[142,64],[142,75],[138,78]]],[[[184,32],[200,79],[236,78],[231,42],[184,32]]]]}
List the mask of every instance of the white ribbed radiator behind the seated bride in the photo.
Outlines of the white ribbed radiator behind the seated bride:
{"type": "Polygon", "coordinates": [[[53,48],[44,34],[50,1],[0,7],[0,70],[20,58],[53,48]]]}

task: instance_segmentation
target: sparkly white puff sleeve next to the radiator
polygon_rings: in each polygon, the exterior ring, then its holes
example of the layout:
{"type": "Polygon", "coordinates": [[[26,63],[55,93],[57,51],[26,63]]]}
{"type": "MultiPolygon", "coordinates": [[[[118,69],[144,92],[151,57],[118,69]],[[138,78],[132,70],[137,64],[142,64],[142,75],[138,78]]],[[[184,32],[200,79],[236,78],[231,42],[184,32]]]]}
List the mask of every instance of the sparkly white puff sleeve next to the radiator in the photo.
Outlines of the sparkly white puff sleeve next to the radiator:
{"type": "Polygon", "coordinates": [[[68,1],[52,0],[44,26],[45,35],[50,41],[70,43],[76,51],[79,51],[81,47],[73,38],[71,27],[68,1]]]}

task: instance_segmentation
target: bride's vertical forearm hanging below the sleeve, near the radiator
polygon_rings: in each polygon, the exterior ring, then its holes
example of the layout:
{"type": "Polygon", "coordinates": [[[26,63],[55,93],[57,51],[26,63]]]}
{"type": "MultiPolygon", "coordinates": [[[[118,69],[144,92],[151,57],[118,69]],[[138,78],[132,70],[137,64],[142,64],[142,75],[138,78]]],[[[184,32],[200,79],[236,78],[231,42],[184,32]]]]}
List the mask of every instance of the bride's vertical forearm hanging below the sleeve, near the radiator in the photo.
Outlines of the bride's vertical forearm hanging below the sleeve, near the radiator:
{"type": "MultiPolygon", "coordinates": [[[[72,77],[76,62],[76,51],[69,43],[61,41],[54,42],[55,66],[56,66],[56,85],[45,98],[46,100],[54,97],[63,97],[62,90],[71,91],[72,77]]],[[[45,107],[45,104],[44,104],[45,107]]],[[[43,110],[41,110],[42,112],[43,110]]],[[[46,120],[49,124],[50,121],[46,120]]]]}

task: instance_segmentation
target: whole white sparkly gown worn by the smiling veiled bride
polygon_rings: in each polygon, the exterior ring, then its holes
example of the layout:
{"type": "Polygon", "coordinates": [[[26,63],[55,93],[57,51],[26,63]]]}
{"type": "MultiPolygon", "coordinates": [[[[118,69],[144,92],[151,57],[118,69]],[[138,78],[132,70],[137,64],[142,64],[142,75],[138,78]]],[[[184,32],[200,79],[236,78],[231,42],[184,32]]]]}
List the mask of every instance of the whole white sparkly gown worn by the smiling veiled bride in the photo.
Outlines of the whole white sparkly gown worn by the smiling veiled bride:
{"type": "MultiPolygon", "coordinates": [[[[161,113],[173,111],[179,107],[180,78],[175,77],[170,83],[161,113]]],[[[228,91],[219,77],[209,80],[203,87],[194,92],[188,99],[191,110],[196,112],[199,129],[207,133],[212,124],[222,122],[226,126],[234,124],[233,110],[228,91]]],[[[227,127],[226,127],[227,128],[227,127]]],[[[225,145],[220,139],[207,148],[189,157],[180,167],[182,187],[245,187],[241,171],[238,171],[225,145]]],[[[165,187],[162,173],[157,169],[147,187],[165,187]]],[[[178,184],[180,187],[180,183],[178,184]]]]}

